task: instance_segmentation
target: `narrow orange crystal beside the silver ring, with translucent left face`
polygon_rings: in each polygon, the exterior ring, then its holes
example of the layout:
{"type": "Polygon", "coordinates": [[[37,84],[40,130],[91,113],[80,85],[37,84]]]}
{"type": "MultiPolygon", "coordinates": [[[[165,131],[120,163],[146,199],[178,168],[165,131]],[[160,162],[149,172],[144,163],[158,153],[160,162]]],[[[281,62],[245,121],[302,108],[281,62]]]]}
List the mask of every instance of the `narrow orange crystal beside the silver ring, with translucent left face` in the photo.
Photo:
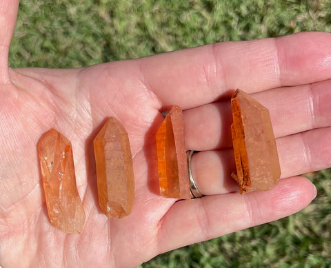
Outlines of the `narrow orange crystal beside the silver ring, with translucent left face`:
{"type": "Polygon", "coordinates": [[[190,199],[183,112],[174,105],[156,134],[161,196],[190,199]]]}

